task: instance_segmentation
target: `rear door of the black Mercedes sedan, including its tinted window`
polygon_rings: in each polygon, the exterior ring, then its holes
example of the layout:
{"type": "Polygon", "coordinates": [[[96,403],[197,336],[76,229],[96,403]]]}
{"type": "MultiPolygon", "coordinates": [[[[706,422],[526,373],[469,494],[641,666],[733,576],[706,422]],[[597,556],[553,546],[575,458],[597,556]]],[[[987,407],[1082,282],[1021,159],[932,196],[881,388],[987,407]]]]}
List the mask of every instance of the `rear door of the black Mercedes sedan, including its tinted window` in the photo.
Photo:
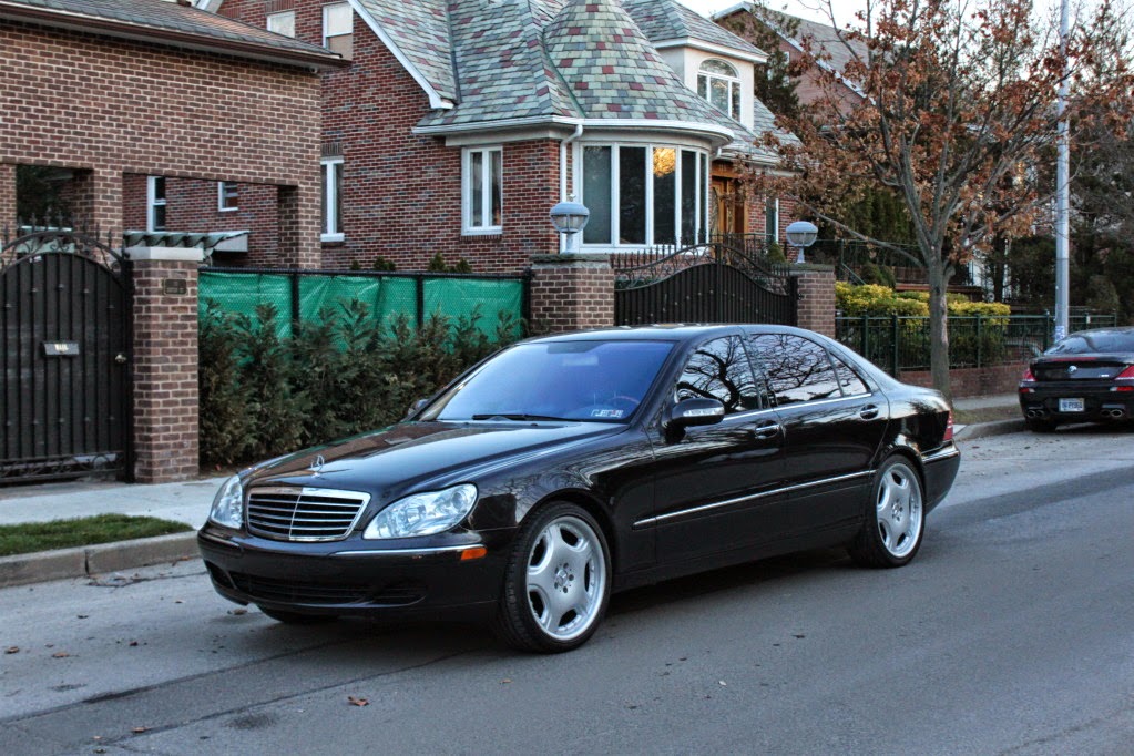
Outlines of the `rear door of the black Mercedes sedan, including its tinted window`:
{"type": "Polygon", "coordinates": [[[750,333],[784,431],[788,535],[850,525],[862,516],[889,402],[841,357],[794,333],[750,333]]]}

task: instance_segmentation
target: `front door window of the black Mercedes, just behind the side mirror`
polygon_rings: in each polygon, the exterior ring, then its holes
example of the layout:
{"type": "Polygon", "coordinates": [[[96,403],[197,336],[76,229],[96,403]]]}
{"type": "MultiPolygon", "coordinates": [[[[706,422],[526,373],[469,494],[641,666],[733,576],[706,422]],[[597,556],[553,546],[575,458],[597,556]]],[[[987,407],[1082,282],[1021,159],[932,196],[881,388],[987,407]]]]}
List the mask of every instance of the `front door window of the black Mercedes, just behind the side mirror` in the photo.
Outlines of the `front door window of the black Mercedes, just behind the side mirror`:
{"type": "Polygon", "coordinates": [[[752,365],[738,335],[706,341],[689,356],[677,380],[675,396],[682,399],[719,399],[725,414],[759,409],[752,365]]]}

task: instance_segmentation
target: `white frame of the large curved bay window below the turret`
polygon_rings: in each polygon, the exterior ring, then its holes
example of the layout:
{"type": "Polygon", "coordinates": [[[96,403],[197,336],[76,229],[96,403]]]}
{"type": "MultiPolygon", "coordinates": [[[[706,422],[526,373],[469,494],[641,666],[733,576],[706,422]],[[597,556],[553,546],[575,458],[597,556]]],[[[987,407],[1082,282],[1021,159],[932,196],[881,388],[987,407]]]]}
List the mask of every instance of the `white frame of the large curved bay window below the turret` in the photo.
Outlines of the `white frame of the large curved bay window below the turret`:
{"type": "MultiPolygon", "coordinates": [[[[704,238],[708,239],[710,231],[710,219],[705,213],[709,205],[709,185],[712,182],[709,176],[709,153],[701,147],[692,147],[683,144],[672,143],[637,143],[637,142],[586,142],[578,146],[578,152],[575,154],[575,186],[585,186],[586,177],[583,175],[583,150],[586,147],[610,147],[610,241],[584,241],[583,247],[590,249],[613,249],[613,250],[625,250],[632,252],[635,249],[649,249],[658,244],[670,244],[670,241],[657,241],[653,238],[653,181],[649,178],[645,181],[645,197],[643,202],[645,203],[645,244],[621,244],[618,239],[621,237],[621,207],[619,205],[621,193],[621,161],[619,160],[619,150],[621,147],[635,147],[645,148],[645,171],[648,177],[653,176],[653,151],[654,150],[676,150],[677,151],[677,164],[675,167],[674,181],[677,186],[677,193],[674,197],[674,228],[676,229],[678,240],[680,240],[682,235],[682,184],[683,184],[683,161],[682,152],[693,152],[697,155],[697,188],[695,192],[695,206],[694,214],[696,221],[693,226],[693,236],[695,239],[704,238]],[[704,221],[704,224],[702,224],[704,221]]],[[[583,195],[583,193],[581,193],[583,195]]],[[[581,202],[585,205],[586,197],[582,196],[581,202]]]]}

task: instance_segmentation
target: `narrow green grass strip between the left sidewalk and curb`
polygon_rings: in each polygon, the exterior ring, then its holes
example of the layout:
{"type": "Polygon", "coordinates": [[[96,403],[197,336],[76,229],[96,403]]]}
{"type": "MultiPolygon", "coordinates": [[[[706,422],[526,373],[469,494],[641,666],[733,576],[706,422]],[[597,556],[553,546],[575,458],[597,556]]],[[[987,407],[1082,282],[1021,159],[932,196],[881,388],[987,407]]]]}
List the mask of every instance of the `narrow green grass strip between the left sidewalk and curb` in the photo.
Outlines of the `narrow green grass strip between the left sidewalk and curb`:
{"type": "Polygon", "coordinates": [[[185,523],[129,515],[96,515],[50,523],[0,525],[0,557],[149,538],[192,529],[185,523]]]}

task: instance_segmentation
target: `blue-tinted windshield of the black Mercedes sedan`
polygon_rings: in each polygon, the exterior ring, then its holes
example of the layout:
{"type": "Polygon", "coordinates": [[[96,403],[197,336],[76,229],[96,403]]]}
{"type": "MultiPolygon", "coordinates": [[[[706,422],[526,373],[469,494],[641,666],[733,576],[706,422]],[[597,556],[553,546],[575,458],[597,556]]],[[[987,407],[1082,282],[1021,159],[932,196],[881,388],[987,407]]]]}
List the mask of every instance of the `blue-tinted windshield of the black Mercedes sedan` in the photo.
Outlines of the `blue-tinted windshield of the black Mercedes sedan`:
{"type": "Polygon", "coordinates": [[[517,345],[451,387],[422,419],[625,423],[672,348],[668,341],[517,345]]]}

